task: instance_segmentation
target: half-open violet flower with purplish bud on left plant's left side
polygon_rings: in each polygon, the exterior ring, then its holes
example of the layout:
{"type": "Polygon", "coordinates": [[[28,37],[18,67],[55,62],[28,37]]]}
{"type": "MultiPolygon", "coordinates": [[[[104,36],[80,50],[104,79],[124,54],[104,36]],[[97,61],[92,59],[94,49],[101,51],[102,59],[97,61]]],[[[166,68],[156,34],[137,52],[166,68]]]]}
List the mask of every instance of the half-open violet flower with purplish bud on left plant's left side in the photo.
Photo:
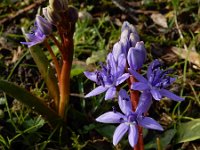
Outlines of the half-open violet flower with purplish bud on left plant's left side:
{"type": "Polygon", "coordinates": [[[33,31],[31,33],[25,34],[29,42],[21,42],[21,44],[25,44],[28,45],[28,47],[31,47],[42,43],[46,39],[46,36],[51,34],[51,32],[52,25],[45,18],[37,15],[33,31]]]}

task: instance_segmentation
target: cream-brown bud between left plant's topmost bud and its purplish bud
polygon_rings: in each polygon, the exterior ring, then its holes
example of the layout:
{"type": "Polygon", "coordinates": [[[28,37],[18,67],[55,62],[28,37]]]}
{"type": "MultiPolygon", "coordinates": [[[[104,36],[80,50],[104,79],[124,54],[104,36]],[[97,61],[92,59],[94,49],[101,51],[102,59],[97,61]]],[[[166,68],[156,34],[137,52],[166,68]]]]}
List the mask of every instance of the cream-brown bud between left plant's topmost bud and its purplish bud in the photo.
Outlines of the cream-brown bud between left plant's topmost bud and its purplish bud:
{"type": "Polygon", "coordinates": [[[43,8],[43,15],[51,24],[57,25],[61,21],[60,15],[51,7],[43,8]]]}

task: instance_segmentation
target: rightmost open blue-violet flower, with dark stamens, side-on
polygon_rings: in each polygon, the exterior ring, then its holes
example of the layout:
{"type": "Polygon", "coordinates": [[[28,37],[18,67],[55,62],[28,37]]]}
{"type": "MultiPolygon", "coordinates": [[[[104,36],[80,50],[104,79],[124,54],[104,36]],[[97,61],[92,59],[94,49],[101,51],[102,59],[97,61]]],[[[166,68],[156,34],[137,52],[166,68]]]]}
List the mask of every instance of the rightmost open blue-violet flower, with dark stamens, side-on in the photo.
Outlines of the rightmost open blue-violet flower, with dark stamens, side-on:
{"type": "Polygon", "coordinates": [[[172,70],[163,70],[161,66],[160,61],[154,60],[148,67],[147,79],[135,70],[129,69],[130,73],[139,81],[133,83],[131,89],[151,93],[155,100],[161,100],[163,96],[166,96],[175,101],[183,101],[184,98],[165,89],[175,81],[175,78],[169,76],[172,70]]]}

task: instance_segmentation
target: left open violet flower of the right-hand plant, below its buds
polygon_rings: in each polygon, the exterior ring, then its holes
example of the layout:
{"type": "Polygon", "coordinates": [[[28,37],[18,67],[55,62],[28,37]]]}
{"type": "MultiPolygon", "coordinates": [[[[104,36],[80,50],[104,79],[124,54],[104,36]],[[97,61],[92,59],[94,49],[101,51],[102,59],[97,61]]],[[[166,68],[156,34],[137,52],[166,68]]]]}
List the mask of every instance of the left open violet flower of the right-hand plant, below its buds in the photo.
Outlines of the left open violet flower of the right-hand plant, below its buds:
{"type": "Polygon", "coordinates": [[[106,91],[105,100],[114,98],[117,92],[116,87],[129,78],[129,73],[124,73],[125,67],[126,58],[124,54],[114,57],[114,54],[109,53],[107,64],[102,64],[100,71],[84,72],[88,79],[99,85],[85,97],[95,96],[106,91]]]}

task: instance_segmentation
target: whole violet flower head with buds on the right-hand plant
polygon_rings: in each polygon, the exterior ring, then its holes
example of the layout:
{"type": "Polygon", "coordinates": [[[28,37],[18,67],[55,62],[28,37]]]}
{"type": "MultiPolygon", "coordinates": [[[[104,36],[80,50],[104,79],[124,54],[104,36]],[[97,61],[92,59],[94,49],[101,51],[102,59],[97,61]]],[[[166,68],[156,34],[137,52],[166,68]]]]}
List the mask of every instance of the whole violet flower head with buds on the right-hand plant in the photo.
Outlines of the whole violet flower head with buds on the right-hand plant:
{"type": "Polygon", "coordinates": [[[152,99],[161,100],[163,96],[175,101],[184,99],[165,89],[175,81],[175,78],[169,76],[170,69],[162,69],[163,65],[160,61],[154,60],[150,64],[147,70],[147,79],[138,73],[146,59],[144,42],[140,41],[136,29],[127,21],[123,23],[121,31],[120,40],[114,44],[112,52],[108,54],[106,64],[101,64],[101,69],[94,72],[84,72],[88,79],[98,85],[85,97],[106,92],[105,100],[108,100],[115,98],[118,94],[118,104],[123,114],[116,110],[109,111],[99,116],[96,121],[118,123],[119,126],[113,135],[113,144],[118,144],[128,132],[129,143],[134,147],[138,141],[137,126],[163,130],[154,119],[144,115],[149,110],[152,99]],[[142,91],[135,112],[127,92],[121,88],[121,85],[130,76],[138,81],[131,85],[131,90],[142,91]]]}

